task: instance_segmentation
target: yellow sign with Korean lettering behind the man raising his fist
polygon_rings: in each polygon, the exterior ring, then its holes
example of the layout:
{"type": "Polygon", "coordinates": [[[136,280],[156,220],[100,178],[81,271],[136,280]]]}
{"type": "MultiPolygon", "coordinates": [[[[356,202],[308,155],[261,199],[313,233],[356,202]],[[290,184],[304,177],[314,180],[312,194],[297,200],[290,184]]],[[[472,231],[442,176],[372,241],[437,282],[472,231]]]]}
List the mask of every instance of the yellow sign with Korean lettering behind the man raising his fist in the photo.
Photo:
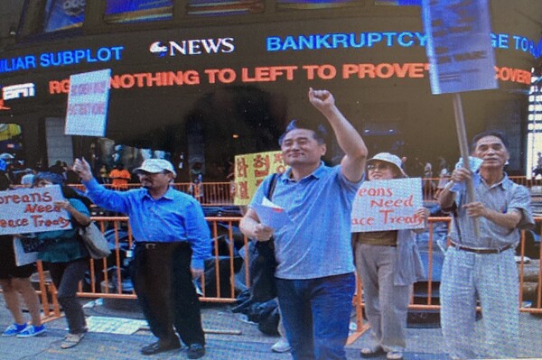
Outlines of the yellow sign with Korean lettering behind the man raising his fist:
{"type": "Polygon", "coordinates": [[[248,205],[267,175],[286,169],[282,152],[258,152],[235,157],[234,204],[248,205]]]}

